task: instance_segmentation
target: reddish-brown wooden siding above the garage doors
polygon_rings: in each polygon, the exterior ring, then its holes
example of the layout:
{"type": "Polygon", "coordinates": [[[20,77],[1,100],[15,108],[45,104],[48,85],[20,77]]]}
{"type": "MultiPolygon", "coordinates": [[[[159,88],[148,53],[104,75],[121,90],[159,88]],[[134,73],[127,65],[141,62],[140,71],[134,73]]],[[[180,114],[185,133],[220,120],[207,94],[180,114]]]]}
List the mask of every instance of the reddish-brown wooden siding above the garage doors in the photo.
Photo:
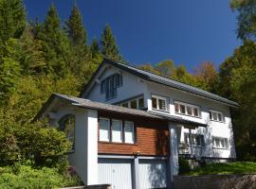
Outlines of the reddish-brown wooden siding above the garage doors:
{"type": "Polygon", "coordinates": [[[145,119],[121,114],[100,112],[100,117],[108,117],[126,121],[133,121],[136,129],[136,144],[119,144],[100,142],[100,154],[134,155],[139,151],[145,156],[169,155],[168,123],[162,120],[145,119]]]}

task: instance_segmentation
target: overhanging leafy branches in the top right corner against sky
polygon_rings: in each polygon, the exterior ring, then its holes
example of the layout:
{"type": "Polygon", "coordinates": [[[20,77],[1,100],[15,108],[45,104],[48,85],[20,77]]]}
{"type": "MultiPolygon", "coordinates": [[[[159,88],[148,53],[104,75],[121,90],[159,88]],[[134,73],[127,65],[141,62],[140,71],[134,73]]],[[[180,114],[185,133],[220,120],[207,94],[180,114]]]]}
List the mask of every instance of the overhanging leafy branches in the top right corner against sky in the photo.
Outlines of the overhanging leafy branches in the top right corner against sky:
{"type": "Polygon", "coordinates": [[[231,0],[230,7],[238,12],[237,37],[256,42],[256,0],[231,0]]]}

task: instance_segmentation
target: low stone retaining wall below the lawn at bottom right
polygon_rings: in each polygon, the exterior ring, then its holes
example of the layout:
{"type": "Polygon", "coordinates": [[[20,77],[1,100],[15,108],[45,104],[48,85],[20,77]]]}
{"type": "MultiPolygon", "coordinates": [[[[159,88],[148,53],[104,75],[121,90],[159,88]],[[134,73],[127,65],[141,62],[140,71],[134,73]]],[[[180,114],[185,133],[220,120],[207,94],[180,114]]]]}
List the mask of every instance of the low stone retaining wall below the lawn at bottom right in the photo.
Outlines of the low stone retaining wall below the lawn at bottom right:
{"type": "Polygon", "coordinates": [[[176,176],[174,189],[255,189],[256,175],[176,176]]]}

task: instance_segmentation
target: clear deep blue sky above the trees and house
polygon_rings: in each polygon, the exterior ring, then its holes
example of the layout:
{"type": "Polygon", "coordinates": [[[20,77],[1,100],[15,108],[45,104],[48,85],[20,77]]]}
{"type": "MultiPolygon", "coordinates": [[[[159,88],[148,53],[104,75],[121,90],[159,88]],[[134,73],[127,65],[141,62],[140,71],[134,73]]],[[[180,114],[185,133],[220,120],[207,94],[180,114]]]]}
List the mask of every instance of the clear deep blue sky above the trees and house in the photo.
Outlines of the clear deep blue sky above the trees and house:
{"type": "MultiPolygon", "coordinates": [[[[241,44],[229,0],[76,0],[89,42],[109,24],[125,60],[174,60],[188,70],[204,60],[217,66],[241,44]]],[[[25,0],[28,19],[43,20],[54,3],[62,21],[74,0],[25,0]]]]}

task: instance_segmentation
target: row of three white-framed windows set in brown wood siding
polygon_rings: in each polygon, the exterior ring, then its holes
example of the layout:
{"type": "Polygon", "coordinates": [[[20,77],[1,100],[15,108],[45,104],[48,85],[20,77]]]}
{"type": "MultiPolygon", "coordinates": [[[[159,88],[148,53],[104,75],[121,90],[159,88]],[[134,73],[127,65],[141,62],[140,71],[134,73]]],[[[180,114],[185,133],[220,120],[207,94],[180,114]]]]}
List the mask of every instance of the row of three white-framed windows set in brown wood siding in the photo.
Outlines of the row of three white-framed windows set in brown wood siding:
{"type": "Polygon", "coordinates": [[[135,143],[135,129],[133,122],[100,118],[99,123],[100,141],[129,144],[135,143]]]}

